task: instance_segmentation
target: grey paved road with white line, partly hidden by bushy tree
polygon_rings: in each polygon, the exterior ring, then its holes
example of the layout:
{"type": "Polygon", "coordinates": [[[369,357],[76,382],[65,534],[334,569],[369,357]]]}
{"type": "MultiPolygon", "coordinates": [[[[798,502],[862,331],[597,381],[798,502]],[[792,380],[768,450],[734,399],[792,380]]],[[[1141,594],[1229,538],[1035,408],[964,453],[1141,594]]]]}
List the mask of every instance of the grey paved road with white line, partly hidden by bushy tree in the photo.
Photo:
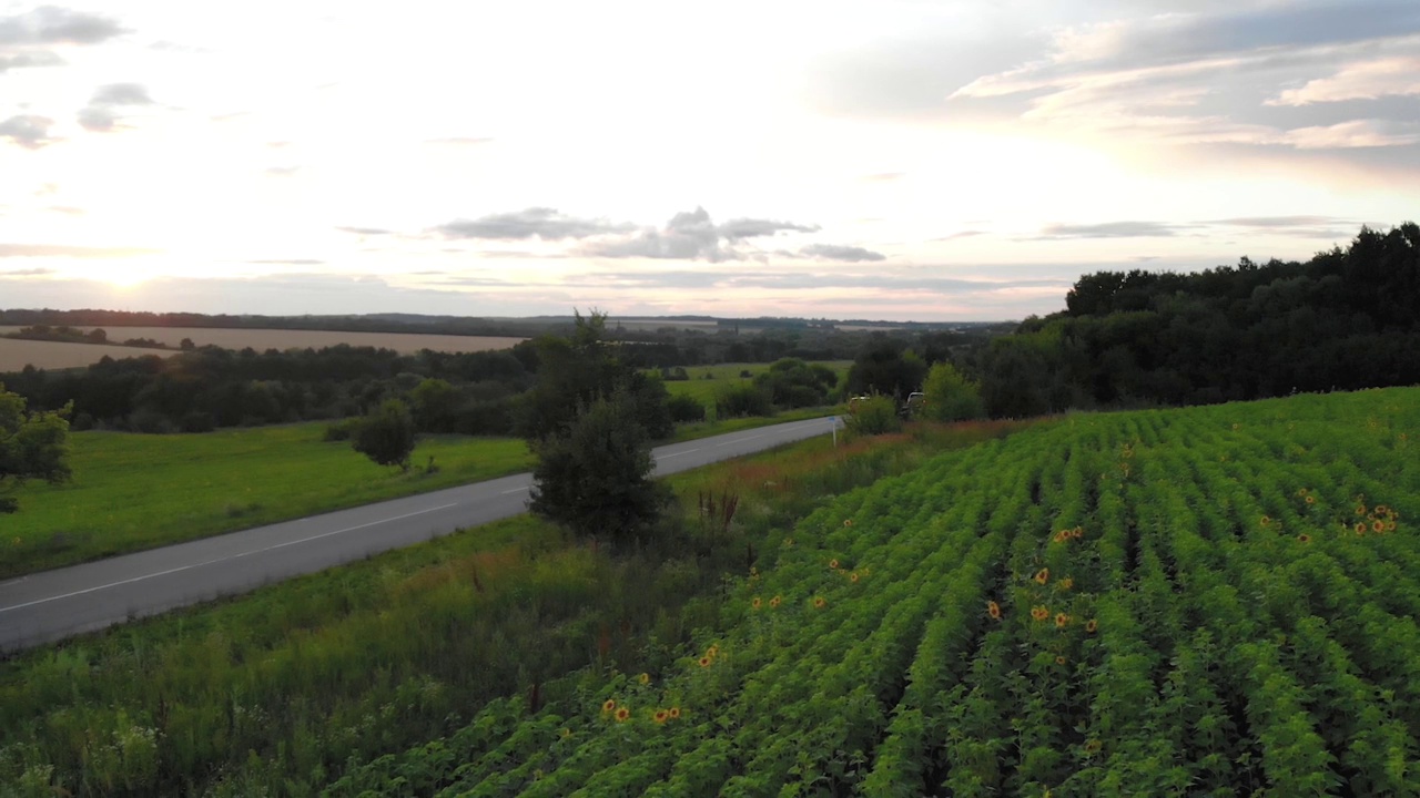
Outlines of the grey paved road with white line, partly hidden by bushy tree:
{"type": "MultiPolygon", "coordinates": [[[[660,446],[656,473],[828,434],[836,423],[811,419],[660,446]]],[[[515,474],[0,582],[0,652],[240,594],[517,515],[527,510],[531,484],[531,474],[515,474]]]]}

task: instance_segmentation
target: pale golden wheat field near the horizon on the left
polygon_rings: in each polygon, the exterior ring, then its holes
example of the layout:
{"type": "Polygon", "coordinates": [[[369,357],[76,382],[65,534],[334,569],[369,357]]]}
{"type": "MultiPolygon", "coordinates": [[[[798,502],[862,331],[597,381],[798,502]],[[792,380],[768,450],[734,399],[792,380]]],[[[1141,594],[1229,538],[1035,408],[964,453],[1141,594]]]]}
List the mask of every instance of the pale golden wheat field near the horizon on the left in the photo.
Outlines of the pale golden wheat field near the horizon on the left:
{"type": "MultiPolygon", "coordinates": [[[[14,332],[18,327],[0,327],[0,335],[14,332]]],[[[84,328],[88,329],[88,328],[84,328]]],[[[105,327],[108,339],[121,342],[129,338],[151,338],[169,346],[178,346],[183,338],[193,344],[209,344],[227,349],[251,346],[258,352],[266,349],[317,348],[349,344],[351,346],[382,346],[400,354],[420,349],[436,352],[483,352],[507,349],[523,338],[494,335],[422,335],[417,332],[337,332],[328,329],[230,329],[230,328],[187,328],[187,327],[105,327]]],[[[16,341],[0,338],[0,372],[18,371],[26,365],[44,369],[65,369],[87,366],[104,355],[111,358],[136,358],[141,355],[172,355],[175,349],[142,349],[136,346],[115,346],[95,344],[67,344],[53,341],[16,341]]]]}

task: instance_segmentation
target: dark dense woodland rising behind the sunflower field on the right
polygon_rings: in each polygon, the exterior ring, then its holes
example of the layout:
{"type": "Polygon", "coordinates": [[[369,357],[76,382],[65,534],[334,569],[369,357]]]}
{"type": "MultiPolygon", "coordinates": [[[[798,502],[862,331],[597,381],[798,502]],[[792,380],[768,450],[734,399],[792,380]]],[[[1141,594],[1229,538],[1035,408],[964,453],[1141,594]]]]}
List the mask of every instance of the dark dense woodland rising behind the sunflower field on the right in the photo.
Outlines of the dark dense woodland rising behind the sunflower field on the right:
{"type": "Polygon", "coordinates": [[[1306,263],[1081,277],[980,358],[993,416],[1420,382],[1420,226],[1306,263]]]}

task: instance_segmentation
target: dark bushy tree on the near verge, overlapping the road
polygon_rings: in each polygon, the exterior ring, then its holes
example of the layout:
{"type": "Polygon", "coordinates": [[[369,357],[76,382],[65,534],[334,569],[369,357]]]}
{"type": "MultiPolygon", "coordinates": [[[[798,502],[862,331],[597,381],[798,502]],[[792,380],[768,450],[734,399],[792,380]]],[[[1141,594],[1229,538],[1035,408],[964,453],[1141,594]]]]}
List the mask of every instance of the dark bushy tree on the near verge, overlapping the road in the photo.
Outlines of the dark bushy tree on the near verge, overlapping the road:
{"type": "Polygon", "coordinates": [[[582,406],[564,434],[531,446],[537,467],[530,508],[578,535],[635,538],[669,498],[650,479],[650,437],[626,392],[582,406]]]}

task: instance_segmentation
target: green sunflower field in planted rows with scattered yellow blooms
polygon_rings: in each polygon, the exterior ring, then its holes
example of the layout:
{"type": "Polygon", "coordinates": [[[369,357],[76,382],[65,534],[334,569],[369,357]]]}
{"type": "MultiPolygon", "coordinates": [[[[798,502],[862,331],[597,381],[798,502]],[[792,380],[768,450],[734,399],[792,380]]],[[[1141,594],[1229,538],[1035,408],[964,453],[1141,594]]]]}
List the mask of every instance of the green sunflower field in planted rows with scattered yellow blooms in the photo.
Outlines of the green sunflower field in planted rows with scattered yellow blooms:
{"type": "Polygon", "coordinates": [[[1071,415],[839,496],[655,673],[332,795],[1420,794],[1420,389],[1071,415]]]}

